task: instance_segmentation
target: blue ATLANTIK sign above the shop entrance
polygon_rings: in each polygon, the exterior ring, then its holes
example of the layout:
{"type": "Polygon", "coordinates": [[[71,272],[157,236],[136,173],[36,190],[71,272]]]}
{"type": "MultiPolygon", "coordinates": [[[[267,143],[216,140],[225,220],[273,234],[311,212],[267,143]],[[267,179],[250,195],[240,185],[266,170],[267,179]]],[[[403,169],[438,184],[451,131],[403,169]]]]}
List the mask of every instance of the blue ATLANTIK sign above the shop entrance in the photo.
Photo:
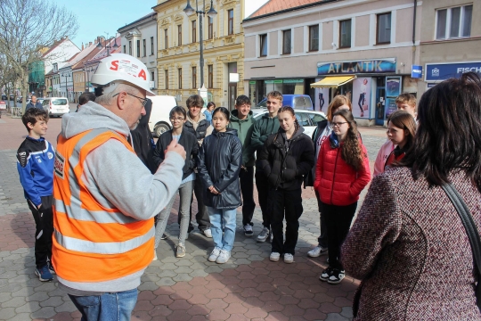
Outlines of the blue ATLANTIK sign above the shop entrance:
{"type": "Polygon", "coordinates": [[[317,75],[319,76],[387,72],[395,72],[395,58],[317,63],[317,75]]]}

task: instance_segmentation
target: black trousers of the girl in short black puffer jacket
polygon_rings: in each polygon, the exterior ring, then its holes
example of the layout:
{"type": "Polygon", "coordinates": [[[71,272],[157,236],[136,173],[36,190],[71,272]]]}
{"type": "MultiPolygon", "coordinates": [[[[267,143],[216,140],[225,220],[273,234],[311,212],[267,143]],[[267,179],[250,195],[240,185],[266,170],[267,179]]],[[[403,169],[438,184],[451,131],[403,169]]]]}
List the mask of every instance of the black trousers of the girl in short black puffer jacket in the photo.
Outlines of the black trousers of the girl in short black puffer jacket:
{"type": "Polygon", "coordinates": [[[299,235],[299,218],[302,214],[302,190],[271,189],[269,191],[273,252],[294,255],[299,235]],[[286,218],[286,241],[283,241],[282,222],[286,218]]]}

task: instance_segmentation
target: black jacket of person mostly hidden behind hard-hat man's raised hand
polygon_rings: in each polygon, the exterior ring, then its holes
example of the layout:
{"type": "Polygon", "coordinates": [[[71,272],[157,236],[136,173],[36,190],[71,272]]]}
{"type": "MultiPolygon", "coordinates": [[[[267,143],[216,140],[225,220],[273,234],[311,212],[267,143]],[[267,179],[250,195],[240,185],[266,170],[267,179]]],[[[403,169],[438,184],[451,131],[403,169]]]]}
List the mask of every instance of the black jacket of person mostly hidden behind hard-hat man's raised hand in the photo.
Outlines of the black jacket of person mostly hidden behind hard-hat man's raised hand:
{"type": "Polygon", "coordinates": [[[148,99],[147,103],[145,104],[145,115],[143,115],[140,119],[137,128],[130,131],[129,143],[132,144],[132,147],[134,147],[135,153],[141,159],[143,165],[145,165],[147,169],[151,169],[151,173],[153,174],[159,166],[153,161],[155,143],[151,129],[149,128],[151,111],[152,101],[148,99]]]}

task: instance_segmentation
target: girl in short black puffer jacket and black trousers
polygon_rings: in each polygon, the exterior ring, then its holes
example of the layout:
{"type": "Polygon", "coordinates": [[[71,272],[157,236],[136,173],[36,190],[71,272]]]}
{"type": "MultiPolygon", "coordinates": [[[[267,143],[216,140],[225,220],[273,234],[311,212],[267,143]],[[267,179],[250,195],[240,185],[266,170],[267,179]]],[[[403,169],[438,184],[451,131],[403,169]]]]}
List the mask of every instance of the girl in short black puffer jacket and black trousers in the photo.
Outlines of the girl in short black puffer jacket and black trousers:
{"type": "Polygon", "coordinates": [[[299,126],[292,107],[283,106],[277,113],[280,128],[265,140],[257,154],[260,168],[269,182],[268,208],[271,209],[273,233],[270,259],[285,263],[294,261],[298,243],[299,218],[302,215],[304,176],[314,166],[314,145],[304,128],[299,126]],[[283,241],[282,222],[286,219],[286,239],[283,241]]]}

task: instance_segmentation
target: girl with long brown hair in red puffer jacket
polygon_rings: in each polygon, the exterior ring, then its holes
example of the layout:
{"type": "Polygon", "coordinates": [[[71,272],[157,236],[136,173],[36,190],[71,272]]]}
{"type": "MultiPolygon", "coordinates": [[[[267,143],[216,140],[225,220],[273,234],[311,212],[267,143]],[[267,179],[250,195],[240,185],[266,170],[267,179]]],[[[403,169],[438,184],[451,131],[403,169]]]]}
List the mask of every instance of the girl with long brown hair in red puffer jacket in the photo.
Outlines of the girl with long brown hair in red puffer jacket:
{"type": "Polygon", "coordinates": [[[371,170],[351,111],[335,112],[330,126],[332,134],[322,143],[317,159],[314,188],[328,231],[329,268],[320,279],[338,284],[345,276],[340,246],[349,232],[359,194],[371,180],[371,170]]]}

